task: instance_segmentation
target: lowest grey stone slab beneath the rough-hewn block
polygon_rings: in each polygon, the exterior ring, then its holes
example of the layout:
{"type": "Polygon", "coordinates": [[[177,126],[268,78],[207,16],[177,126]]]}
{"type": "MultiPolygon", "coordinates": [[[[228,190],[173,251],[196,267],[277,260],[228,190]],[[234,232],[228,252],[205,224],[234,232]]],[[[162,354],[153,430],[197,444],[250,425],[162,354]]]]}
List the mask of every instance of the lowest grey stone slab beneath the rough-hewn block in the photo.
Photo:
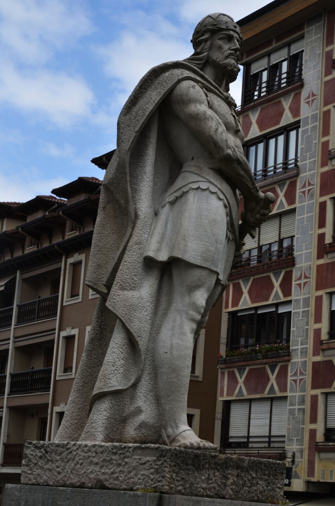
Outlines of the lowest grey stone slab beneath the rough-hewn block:
{"type": "Polygon", "coordinates": [[[264,506],[260,502],[119,490],[6,485],[4,506],[264,506]]]}

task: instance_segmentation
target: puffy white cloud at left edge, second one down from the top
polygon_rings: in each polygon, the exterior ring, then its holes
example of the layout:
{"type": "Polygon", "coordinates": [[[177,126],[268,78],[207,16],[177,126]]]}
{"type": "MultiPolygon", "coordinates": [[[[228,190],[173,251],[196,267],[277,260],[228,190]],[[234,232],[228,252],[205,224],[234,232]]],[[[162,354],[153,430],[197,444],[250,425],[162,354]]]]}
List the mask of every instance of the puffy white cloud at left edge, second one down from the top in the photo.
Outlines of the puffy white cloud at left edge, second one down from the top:
{"type": "Polygon", "coordinates": [[[90,114],[92,91],[79,76],[64,72],[36,70],[21,73],[6,62],[0,63],[0,102],[24,112],[47,117],[59,126],[68,126],[90,114]]]}

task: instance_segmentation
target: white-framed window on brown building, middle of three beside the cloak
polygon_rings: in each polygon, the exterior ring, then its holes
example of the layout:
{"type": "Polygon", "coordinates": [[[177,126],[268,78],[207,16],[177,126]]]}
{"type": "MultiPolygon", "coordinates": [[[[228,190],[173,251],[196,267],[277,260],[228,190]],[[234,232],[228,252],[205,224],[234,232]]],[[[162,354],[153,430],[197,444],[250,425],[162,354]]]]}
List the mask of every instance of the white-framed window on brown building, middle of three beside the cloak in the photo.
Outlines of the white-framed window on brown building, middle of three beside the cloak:
{"type": "Polygon", "coordinates": [[[78,329],[68,327],[60,332],[57,379],[74,377],[77,358],[78,329]]]}

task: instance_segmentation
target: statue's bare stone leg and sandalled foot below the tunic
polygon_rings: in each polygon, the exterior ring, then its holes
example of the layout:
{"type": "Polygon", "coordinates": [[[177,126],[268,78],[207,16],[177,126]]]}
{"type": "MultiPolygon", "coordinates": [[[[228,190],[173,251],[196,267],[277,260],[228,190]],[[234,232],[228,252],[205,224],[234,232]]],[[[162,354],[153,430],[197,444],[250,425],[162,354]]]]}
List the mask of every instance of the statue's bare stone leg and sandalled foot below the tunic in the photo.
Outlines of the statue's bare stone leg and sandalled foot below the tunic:
{"type": "Polygon", "coordinates": [[[209,311],[207,301],[214,303],[221,287],[217,274],[210,269],[177,259],[171,261],[171,269],[172,305],[157,336],[155,351],[162,438],[171,446],[214,449],[190,429],[186,410],[194,336],[209,311]]]}

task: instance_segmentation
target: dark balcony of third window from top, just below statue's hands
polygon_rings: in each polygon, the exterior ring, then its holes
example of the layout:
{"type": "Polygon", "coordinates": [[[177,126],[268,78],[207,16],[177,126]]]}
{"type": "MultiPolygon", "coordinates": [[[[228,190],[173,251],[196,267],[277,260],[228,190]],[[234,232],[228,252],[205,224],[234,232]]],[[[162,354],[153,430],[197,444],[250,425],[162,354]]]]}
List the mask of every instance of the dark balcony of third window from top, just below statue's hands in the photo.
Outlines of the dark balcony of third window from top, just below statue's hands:
{"type": "Polygon", "coordinates": [[[239,260],[230,271],[228,281],[247,275],[255,276],[259,272],[264,273],[294,267],[294,265],[294,246],[286,246],[275,251],[267,250],[258,255],[239,260]]]}

